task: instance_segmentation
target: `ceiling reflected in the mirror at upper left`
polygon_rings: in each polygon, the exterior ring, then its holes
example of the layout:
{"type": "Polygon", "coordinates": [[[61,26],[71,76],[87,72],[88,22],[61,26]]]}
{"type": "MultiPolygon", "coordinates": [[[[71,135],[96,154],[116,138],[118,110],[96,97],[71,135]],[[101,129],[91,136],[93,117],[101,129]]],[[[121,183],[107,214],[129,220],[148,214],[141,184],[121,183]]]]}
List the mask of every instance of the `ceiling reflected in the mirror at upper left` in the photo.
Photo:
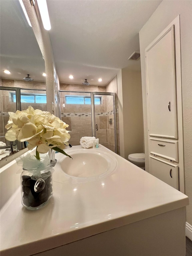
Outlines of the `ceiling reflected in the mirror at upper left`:
{"type": "Polygon", "coordinates": [[[41,50],[18,0],[0,1],[0,32],[1,78],[22,80],[30,74],[35,81],[45,81],[41,50]],[[5,74],[5,69],[11,74],[5,74]]]}

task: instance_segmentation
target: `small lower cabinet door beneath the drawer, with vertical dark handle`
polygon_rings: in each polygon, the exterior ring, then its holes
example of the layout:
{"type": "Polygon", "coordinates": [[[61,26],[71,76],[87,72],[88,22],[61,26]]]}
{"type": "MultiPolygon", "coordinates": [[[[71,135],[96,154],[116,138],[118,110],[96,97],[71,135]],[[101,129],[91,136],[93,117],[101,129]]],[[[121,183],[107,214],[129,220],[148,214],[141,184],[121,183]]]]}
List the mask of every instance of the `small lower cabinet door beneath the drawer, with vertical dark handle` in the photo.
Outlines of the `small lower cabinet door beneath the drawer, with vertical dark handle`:
{"type": "Polygon", "coordinates": [[[178,165],[167,163],[150,155],[150,171],[153,176],[179,190],[178,165]]]}

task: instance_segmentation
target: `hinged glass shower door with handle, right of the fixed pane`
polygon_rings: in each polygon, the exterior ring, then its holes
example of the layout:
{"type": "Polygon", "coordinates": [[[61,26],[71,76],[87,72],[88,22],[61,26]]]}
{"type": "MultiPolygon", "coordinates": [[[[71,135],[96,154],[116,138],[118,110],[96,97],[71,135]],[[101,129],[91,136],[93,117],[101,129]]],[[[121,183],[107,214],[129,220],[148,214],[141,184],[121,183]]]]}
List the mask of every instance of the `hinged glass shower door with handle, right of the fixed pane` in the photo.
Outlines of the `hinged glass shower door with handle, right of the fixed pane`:
{"type": "Polygon", "coordinates": [[[116,152],[114,95],[94,93],[95,137],[99,143],[116,152]]]}

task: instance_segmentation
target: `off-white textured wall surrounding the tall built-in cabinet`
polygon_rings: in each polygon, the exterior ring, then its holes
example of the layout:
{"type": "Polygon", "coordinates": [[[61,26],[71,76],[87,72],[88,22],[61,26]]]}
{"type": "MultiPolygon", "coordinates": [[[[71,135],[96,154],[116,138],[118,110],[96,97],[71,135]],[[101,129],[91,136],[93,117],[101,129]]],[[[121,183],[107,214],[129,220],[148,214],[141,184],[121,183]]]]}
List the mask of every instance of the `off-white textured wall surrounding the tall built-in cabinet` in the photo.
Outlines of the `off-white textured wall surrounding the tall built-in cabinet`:
{"type": "Polygon", "coordinates": [[[140,30],[141,74],[143,90],[143,119],[146,154],[146,170],[149,170],[148,129],[146,107],[145,48],[180,14],[182,107],[185,194],[189,197],[187,222],[192,225],[192,2],[164,0],[140,30]]]}

